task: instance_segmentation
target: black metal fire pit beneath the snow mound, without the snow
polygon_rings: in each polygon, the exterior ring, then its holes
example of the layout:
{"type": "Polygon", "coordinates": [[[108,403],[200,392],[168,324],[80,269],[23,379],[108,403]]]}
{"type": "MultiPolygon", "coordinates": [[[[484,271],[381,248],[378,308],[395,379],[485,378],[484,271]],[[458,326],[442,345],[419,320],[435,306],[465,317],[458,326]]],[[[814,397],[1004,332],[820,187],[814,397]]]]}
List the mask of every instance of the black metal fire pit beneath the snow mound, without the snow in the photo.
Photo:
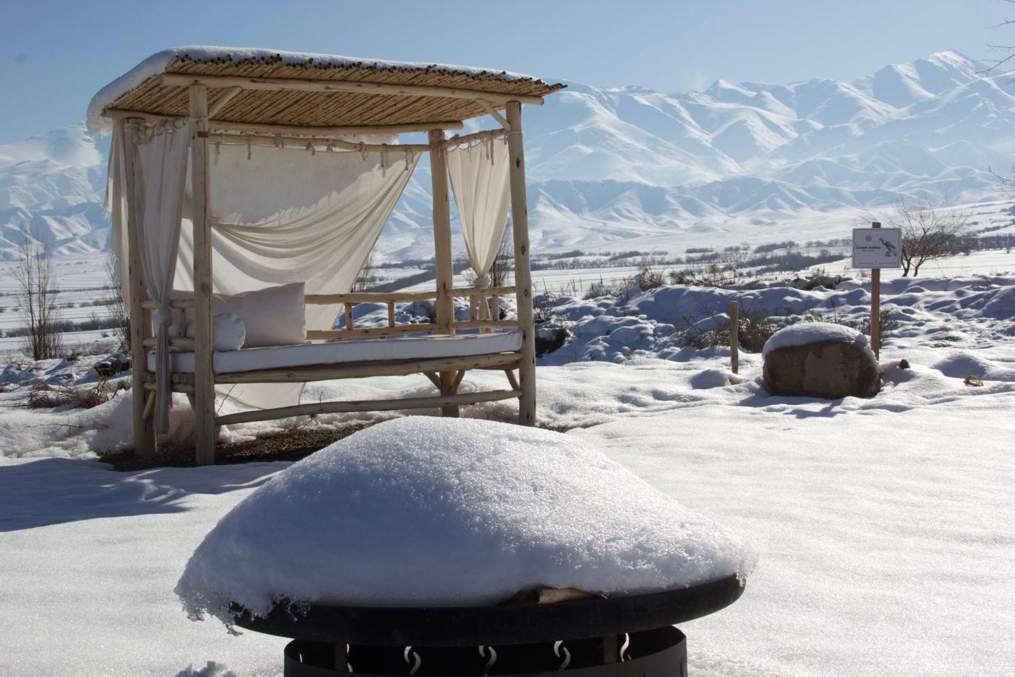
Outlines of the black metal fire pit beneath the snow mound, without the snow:
{"type": "Polygon", "coordinates": [[[276,605],[265,617],[232,608],[236,625],[293,637],[285,677],[536,675],[685,677],[675,623],[733,604],[736,575],[692,588],[611,599],[488,607],[276,605]]]}

